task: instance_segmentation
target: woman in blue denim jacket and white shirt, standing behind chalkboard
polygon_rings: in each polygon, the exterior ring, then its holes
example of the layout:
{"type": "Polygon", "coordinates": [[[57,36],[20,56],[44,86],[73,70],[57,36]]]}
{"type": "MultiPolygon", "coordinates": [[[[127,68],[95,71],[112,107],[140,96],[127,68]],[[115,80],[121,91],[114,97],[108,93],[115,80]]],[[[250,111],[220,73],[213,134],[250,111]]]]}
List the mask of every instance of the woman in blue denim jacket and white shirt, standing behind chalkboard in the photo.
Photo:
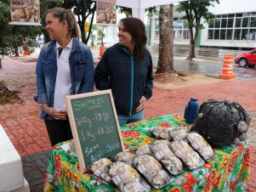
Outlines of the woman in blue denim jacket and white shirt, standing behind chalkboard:
{"type": "Polygon", "coordinates": [[[46,15],[51,42],[37,60],[37,96],[41,118],[52,146],[71,139],[65,95],[94,91],[94,61],[89,48],[78,41],[75,15],[65,8],[52,8],[46,15]]]}

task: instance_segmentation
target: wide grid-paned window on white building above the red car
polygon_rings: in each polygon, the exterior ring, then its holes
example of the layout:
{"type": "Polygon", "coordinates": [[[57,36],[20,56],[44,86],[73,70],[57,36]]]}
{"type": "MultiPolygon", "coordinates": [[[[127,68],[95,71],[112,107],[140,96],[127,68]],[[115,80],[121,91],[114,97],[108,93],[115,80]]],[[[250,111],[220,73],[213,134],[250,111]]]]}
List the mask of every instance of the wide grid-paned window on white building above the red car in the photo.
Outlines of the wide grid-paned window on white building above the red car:
{"type": "Polygon", "coordinates": [[[256,40],[256,12],[215,15],[208,25],[208,39],[256,40]]]}

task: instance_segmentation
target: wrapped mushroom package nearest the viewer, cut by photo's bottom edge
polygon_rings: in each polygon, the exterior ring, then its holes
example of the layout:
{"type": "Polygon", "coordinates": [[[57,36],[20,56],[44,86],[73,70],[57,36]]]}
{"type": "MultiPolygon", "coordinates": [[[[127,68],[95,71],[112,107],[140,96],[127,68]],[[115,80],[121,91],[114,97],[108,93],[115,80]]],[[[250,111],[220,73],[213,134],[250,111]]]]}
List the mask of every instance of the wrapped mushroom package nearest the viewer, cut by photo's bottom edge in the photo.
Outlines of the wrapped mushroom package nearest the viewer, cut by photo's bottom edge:
{"type": "Polygon", "coordinates": [[[125,162],[113,162],[105,167],[105,171],[122,192],[148,192],[151,190],[150,185],[145,183],[139,173],[125,162]]]}

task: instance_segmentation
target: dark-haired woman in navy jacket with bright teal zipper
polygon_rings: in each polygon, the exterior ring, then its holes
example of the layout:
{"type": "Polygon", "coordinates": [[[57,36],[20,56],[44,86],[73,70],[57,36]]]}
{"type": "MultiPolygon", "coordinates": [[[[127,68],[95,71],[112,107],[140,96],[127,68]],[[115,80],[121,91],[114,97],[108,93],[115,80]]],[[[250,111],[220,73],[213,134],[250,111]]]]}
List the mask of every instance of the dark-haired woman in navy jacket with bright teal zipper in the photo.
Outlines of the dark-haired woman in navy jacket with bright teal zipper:
{"type": "Polygon", "coordinates": [[[152,95],[153,72],[143,22],[125,18],[118,29],[119,42],[105,51],[94,81],[100,90],[111,89],[122,125],[144,119],[145,102],[152,95]]]}

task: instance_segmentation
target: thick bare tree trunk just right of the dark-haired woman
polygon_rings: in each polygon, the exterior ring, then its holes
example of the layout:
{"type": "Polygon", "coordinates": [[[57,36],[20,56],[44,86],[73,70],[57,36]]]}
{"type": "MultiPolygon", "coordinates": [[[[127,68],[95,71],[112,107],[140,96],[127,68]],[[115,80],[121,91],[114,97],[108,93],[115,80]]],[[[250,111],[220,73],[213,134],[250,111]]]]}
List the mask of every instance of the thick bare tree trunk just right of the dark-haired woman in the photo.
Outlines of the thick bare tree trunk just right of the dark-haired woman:
{"type": "Polygon", "coordinates": [[[159,13],[159,57],[156,74],[174,72],[174,5],[160,6],[159,13]]]}

